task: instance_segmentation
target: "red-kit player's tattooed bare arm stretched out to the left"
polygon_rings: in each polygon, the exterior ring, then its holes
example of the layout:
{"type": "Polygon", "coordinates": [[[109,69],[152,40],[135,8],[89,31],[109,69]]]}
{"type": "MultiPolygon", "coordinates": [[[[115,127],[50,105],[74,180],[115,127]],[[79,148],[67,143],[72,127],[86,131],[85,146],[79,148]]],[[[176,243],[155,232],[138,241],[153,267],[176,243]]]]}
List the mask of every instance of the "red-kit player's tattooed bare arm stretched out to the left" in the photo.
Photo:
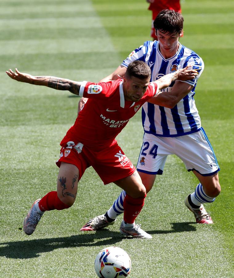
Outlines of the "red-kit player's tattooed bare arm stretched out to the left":
{"type": "Polygon", "coordinates": [[[30,74],[21,73],[17,69],[15,69],[15,72],[12,70],[6,71],[6,74],[10,76],[10,78],[19,82],[46,86],[56,90],[67,90],[75,95],[79,95],[81,82],[54,76],[33,76],[30,74]]]}

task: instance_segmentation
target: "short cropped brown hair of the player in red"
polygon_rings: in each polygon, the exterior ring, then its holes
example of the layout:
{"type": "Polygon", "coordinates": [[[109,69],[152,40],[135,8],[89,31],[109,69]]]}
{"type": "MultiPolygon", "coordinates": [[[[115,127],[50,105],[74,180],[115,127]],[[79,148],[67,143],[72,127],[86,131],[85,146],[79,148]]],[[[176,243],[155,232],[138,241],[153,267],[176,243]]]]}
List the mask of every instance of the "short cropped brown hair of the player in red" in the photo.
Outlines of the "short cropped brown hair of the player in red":
{"type": "Polygon", "coordinates": [[[126,70],[125,77],[130,79],[132,76],[139,79],[151,78],[150,67],[143,61],[133,61],[131,62],[126,70]]]}

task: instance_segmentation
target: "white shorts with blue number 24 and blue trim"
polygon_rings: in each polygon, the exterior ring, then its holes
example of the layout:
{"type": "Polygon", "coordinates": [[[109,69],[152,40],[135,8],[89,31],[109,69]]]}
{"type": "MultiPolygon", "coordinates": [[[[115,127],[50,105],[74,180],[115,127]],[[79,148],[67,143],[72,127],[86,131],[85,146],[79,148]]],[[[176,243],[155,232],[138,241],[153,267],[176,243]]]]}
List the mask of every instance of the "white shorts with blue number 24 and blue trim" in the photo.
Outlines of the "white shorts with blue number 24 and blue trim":
{"type": "Polygon", "coordinates": [[[178,137],[161,137],[144,133],[137,171],[162,175],[168,154],[176,154],[188,171],[203,176],[220,170],[212,146],[201,128],[200,131],[178,137]]]}

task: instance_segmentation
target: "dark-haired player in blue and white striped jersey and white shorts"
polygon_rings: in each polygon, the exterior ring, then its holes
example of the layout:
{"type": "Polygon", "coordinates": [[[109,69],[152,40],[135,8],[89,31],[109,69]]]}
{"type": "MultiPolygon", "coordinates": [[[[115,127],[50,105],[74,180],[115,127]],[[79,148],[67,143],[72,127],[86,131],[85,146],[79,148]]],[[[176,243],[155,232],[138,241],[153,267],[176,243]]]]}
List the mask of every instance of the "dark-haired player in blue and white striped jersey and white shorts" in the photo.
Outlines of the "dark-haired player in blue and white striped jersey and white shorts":
{"type": "MultiPolygon", "coordinates": [[[[143,105],[144,136],[136,168],[146,192],[149,192],[156,175],[163,174],[167,155],[176,154],[184,162],[186,169],[192,171],[199,180],[195,191],[185,198],[185,205],[194,213],[197,223],[212,224],[203,203],[213,202],[220,193],[220,168],[201,127],[194,101],[196,83],[202,74],[204,63],[194,51],[180,44],[183,22],[180,13],[168,9],[161,11],[154,21],[158,41],[144,42],[103,81],[116,78],[117,75],[123,76],[129,63],[135,60],[149,65],[151,80],[157,80],[187,65],[198,71],[195,79],[183,82],[176,80],[164,90],[177,94],[178,98],[173,97],[168,101],[162,94],[157,102],[149,100],[143,105]]],[[[126,192],[122,191],[105,214],[90,220],[81,230],[99,230],[113,224],[116,217],[123,213],[125,196],[126,192]]]]}

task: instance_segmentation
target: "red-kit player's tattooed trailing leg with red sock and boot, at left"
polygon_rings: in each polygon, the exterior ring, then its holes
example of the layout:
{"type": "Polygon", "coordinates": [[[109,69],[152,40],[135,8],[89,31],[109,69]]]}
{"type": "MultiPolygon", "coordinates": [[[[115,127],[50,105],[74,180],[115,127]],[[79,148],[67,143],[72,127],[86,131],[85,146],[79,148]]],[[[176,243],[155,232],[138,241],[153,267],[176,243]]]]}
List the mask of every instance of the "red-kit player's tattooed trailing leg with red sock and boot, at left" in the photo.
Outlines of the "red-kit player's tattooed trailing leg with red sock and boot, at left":
{"type": "Polygon", "coordinates": [[[26,234],[30,235],[34,232],[46,210],[62,210],[74,204],[78,179],[78,168],[62,162],[58,172],[57,191],[51,191],[33,203],[23,223],[23,230],[26,234]]]}

